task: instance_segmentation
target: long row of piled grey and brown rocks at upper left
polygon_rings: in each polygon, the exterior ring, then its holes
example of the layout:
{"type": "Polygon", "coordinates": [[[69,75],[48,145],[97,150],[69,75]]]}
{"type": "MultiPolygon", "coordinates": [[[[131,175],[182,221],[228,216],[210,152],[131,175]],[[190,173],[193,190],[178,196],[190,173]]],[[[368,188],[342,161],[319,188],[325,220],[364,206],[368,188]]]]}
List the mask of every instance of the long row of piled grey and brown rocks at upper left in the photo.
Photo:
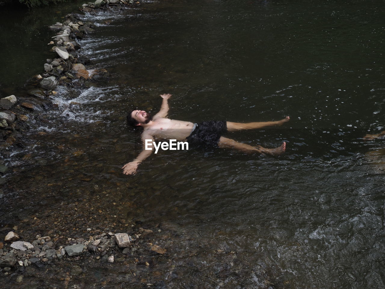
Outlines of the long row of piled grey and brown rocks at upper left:
{"type": "MultiPolygon", "coordinates": [[[[55,109],[53,97],[62,97],[73,87],[90,87],[92,82],[105,79],[109,72],[104,69],[87,69],[90,60],[82,55],[80,39],[96,28],[85,20],[84,13],[95,15],[98,11],[120,10],[126,6],[140,5],[140,2],[124,0],[97,0],[83,4],[80,13],[71,13],[64,21],[50,25],[56,32],[49,41],[52,58],[43,65],[44,72],[28,79],[25,90],[0,99],[0,153],[23,148],[25,132],[30,130],[31,119],[42,121],[40,114],[55,109]],[[58,87],[60,86],[60,87],[58,87]]],[[[8,168],[0,160],[0,175],[8,168]]]]}

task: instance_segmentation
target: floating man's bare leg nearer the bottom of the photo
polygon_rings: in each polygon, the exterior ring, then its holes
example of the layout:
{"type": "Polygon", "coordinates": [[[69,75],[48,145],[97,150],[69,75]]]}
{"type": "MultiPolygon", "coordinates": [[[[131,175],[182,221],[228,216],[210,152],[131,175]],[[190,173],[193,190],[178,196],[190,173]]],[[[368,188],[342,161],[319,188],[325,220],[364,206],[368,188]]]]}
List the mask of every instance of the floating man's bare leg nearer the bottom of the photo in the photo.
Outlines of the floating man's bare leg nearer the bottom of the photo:
{"type": "Polygon", "coordinates": [[[262,146],[251,146],[245,143],[238,143],[234,139],[224,138],[221,136],[218,143],[219,148],[231,148],[238,151],[243,151],[244,153],[267,153],[268,155],[278,156],[285,152],[286,143],[283,142],[280,146],[276,148],[263,148],[262,146]]]}

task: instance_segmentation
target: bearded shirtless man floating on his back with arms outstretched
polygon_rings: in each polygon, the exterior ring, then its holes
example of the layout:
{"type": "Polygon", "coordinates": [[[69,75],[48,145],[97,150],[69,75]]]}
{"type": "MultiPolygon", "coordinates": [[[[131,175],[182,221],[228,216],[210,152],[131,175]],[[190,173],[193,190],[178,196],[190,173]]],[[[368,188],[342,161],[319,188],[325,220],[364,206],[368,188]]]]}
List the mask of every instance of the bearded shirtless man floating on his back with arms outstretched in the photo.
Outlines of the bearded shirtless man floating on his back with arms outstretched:
{"type": "MultiPolygon", "coordinates": [[[[151,117],[146,111],[139,109],[132,110],[127,115],[127,124],[133,127],[142,127],[143,144],[147,140],[151,143],[156,139],[176,139],[177,141],[187,141],[189,148],[231,148],[245,153],[266,153],[268,155],[277,156],[285,152],[286,143],[276,148],[263,148],[262,146],[250,146],[249,144],[238,143],[233,139],[225,138],[222,134],[228,131],[238,131],[243,129],[262,129],[268,126],[281,126],[290,120],[290,117],[281,119],[280,121],[268,121],[259,123],[232,123],[229,121],[204,121],[203,123],[194,124],[188,121],[178,121],[166,118],[169,106],[167,100],[171,94],[162,94],[162,106],[159,113],[151,117]]],[[[127,163],[122,167],[123,173],[131,175],[144,159],[152,153],[151,150],[143,151],[131,163],[127,163]]]]}

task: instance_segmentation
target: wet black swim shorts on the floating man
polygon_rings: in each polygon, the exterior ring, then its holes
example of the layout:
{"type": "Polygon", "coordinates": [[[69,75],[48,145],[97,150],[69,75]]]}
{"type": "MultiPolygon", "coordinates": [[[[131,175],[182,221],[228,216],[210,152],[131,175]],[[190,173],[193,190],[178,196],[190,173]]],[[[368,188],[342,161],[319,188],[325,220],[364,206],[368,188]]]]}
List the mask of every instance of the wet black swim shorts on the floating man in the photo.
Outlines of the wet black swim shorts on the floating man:
{"type": "Polygon", "coordinates": [[[226,121],[203,121],[186,138],[189,148],[218,148],[219,138],[227,133],[226,121]]]}

